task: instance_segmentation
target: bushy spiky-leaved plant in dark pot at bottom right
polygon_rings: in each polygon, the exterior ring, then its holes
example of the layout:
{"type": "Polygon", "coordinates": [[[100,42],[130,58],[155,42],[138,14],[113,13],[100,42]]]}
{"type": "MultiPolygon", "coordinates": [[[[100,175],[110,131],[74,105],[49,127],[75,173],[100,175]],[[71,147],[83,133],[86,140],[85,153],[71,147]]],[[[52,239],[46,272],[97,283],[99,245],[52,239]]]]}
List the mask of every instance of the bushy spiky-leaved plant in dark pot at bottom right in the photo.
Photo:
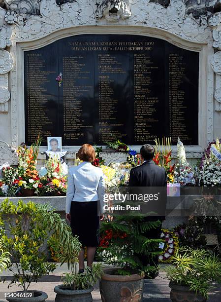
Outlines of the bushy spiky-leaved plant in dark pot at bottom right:
{"type": "Polygon", "coordinates": [[[212,284],[221,282],[221,260],[205,249],[180,248],[170,259],[171,265],[163,271],[170,280],[173,302],[204,302],[212,284]]]}

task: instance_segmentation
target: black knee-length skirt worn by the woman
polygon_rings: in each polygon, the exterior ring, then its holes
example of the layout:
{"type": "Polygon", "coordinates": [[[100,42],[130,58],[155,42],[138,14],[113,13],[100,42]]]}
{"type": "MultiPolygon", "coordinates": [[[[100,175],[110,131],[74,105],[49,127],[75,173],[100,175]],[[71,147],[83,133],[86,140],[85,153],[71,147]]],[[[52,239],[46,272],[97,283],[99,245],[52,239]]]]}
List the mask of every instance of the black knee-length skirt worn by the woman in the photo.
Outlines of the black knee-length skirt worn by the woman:
{"type": "Polygon", "coordinates": [[[99,201],[72,201],[70,207],[70,227],[73,236],[77,235],[82,246],[99,245],[99,201]]]}

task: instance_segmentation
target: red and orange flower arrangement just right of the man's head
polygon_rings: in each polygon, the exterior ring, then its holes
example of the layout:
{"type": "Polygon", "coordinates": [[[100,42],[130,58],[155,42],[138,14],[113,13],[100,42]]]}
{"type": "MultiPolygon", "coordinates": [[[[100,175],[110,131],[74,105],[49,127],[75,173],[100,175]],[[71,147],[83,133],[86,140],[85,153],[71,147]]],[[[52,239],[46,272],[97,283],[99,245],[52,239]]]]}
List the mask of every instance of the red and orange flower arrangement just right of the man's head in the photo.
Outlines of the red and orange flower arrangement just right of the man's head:
{"type": "Polygon", "coordinates": [[[154,140],[155,146],[155,156],[153,158],[154,162],[164,167],[167,174],[167,182],[173,183],[174,182],[174,165],[170,165],[172,160],[172,148],[171,148],[171,137],[163,137],[161,140],[161,144],[158,139],[154,140]]]}

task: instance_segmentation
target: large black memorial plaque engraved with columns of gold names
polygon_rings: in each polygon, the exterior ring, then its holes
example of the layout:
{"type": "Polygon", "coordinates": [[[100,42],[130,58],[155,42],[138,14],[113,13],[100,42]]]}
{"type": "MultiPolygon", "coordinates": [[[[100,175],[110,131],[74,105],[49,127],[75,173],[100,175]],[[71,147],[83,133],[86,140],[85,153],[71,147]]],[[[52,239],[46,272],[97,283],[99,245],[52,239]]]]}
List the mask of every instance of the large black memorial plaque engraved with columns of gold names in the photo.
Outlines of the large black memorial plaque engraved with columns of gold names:
{"type": "Polygon", "coordinates": [[[198,145],[199,53],[158,38],[80,35],[24,52],[25,131],[63,146],[198,145]],[[61,87],[56,77],[62,73],[61,87]]]}

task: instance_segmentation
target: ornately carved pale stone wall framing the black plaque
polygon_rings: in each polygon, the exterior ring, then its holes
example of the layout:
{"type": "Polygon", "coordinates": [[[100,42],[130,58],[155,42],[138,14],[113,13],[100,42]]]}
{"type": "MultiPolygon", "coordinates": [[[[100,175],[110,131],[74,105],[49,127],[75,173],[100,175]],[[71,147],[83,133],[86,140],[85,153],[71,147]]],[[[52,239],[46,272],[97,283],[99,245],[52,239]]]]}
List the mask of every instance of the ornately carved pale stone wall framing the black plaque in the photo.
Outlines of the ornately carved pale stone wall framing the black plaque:
{"type": "Polygon", "coordinates": [[[19,132],[24,132],[24,122],[19,121],[18,114],[21,100],[17,94],[23,84],[16,62],[17,43],[49,37],[62,29],[104,25],[110,29],[113,25],[158,29],[165,39],[169,34],[179,37],[180,47],[182,40],[192,42],[193,50],[194,45],[207,45],[206,67],[201,67],[207,78],[207,104],[203,110],[207,116],[206,140],[212,140],[214,112],[221,112],[221,9],[217,0],[204,2],[199,5],[197,0],[0,0],[0,114],[8,112],[11,102],[8,142],[16,148],[21,143],[19,132]],[[190,11],[190,7],[194,9],[190,11]]]}

